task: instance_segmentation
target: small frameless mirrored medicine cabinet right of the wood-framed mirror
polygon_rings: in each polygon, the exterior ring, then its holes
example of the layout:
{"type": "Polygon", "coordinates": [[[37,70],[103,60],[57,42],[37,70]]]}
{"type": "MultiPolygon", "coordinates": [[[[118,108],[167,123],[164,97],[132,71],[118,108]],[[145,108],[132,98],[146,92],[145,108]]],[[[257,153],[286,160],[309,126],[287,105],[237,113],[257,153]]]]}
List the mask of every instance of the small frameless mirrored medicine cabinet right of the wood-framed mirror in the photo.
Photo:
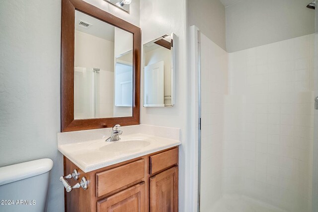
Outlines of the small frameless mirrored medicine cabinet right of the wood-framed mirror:
{"type": "Polygon", "coordinates": [[[144,45],[144,107],[173,106],[173,33],[144,45]]]}

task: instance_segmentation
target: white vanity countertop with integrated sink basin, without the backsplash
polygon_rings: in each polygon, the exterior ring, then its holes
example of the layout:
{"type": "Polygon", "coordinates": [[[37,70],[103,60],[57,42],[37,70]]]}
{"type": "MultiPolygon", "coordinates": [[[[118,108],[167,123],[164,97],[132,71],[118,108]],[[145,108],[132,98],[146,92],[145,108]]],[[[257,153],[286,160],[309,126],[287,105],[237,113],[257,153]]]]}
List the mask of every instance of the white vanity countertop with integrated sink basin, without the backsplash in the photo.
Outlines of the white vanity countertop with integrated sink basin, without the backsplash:
{"type": "Polygon", "coordinates": [[[180,144],[178,140],[132,134],[121,136],[119,141],[98,139],[59,144],[58,149],[82,171],[89,172],[180,144]]]}

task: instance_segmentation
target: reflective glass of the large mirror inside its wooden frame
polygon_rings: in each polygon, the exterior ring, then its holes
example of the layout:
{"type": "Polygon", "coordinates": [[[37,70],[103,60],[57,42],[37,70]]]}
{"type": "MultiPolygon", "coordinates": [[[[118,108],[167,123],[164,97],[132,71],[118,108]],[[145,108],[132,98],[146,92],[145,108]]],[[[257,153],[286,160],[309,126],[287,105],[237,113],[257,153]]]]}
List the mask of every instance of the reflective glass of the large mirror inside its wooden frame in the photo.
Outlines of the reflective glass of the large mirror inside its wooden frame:
{"type": "Polygon", "coordinates": [[[74,119],[130,117],[133,35],[75,12],[74,119]]]}

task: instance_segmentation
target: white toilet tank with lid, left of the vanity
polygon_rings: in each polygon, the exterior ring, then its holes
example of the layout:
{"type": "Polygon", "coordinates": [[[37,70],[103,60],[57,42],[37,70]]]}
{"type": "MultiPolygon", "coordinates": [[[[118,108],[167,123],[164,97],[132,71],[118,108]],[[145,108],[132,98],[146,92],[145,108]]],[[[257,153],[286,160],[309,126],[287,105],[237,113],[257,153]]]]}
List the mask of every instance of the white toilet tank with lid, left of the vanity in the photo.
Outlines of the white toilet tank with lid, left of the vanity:
{"type": "Polygon", "coordinates": [[[52,167],[49,158],[0,167],[0,212],[44,212],[52,167]]]}

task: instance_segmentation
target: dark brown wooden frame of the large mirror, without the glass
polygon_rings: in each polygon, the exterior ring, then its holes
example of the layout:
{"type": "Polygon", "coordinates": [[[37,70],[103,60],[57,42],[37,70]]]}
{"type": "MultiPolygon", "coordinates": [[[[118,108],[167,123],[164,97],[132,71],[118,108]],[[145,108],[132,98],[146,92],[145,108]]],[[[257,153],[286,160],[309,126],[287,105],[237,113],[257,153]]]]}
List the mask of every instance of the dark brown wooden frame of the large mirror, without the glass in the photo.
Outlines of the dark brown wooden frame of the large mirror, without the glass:
{"type": "MultiPolygon", "coordinates": [[[[141,29],[83,0],[62,0],[61,132],[140,124],[141,29]],[[133,109],[131,117],[74,119],[75,10],[133,34],[133,109]]],[[[107,92],[107,91],[105,91],[107,92]]]]}

